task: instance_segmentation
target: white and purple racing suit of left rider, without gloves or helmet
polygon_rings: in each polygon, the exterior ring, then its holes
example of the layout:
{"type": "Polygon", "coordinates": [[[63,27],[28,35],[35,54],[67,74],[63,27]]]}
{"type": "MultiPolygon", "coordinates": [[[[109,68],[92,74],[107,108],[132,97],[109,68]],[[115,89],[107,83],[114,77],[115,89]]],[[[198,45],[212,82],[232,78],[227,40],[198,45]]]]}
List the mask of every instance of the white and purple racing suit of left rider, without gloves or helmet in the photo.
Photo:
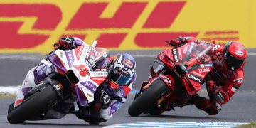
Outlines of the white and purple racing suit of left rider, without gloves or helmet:
{"type": "MultiPolygon", "coordinates": [[[[100,64],[97,65],[98,68],[106,68],[110,64],[112,58],[105,58],[100,64]]],[[[18,95],[14,102],[14,107],[19,105],[24,98],[24,95],[31,90],[31,88],[38,85],[46,76],[50,73],[57,72],[57,68],[50,61],[43,59],[41,63],[31,70],[28,71],[25,80],[23,81],[18,95]]],[[[132,90],[132,83],[136,79],[136,74],[129,82],[128,85],[122,87],[112,86],[113,83],[109,80],[105,80],[102,85],[95,92],[95,101],[90,102],[87,106],[81,107],[77,102],[76,95],[72,94],[65,97],[63,102],[59,102],[57,105],[53,106],[46,114],[34,117],[31,120],[37,119],[60,119],[68,113],[75,114],[79,119],[84,119],[86,122],[105,122],[112,117],[112,115],[117,112],[117,110],[126,101],[127,95],[132,90]],[[111,104],[107,109],[102,109],[99,102],[100,95],[99,91],[105,90],[111,97],[111,104]]]]}

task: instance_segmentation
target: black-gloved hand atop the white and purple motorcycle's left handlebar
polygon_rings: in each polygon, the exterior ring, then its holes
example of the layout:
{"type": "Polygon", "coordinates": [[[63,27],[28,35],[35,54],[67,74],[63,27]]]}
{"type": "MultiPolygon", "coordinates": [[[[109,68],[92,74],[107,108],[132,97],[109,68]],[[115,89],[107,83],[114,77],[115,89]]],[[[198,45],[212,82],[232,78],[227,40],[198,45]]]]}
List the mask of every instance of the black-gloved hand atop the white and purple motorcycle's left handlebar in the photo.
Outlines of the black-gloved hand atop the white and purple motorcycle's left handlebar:
{"type": "Polygon", "coordinates": [[[75,43],[75,39],[73,37],[63,37],[61,38],[58,43],[54,44],[54,47],[56,46],[62,46],[67,49],[74,49],[78,48],[78,46],[75,43]]]}

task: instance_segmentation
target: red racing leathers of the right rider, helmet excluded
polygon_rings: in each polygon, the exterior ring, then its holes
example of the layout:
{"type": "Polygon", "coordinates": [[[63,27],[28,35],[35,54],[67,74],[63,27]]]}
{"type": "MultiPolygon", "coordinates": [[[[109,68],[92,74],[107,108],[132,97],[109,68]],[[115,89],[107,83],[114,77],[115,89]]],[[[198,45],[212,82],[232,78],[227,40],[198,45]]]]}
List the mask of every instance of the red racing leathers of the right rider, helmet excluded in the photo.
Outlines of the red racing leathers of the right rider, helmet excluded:
{"type": "Polygon", "coordinates": [[[224,46],[215,44],[215,42],[199,41],[194,37],[177,37],[175,40],[166,42],[174,47],[182,46],[188,42],[201,43],[213,47],[212,53],[210,53],[213,60],[213,70],[206,80],[209,99],[197,94],[191,99],[190,104],[194,104],[198,109],[204,110],[209,115],[218,114],[222,109],[222,105],[226,104],[242,86],[245,63],[237,70],[228,70],[223,55],[224,46]]]}

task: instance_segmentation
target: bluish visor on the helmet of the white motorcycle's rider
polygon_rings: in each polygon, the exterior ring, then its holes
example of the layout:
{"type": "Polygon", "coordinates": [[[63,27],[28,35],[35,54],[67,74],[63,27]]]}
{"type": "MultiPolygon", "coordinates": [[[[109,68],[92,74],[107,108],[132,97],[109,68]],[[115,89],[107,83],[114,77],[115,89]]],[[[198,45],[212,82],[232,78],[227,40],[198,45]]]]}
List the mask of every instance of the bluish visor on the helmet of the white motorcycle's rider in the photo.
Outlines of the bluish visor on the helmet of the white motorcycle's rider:
{"type": "Polygon", "coordinates": [[[121,73],[118,73],[116,70],[110,74],[111,80],[117,85],[127,85],[128,82],[132,79],[121,73]]]}

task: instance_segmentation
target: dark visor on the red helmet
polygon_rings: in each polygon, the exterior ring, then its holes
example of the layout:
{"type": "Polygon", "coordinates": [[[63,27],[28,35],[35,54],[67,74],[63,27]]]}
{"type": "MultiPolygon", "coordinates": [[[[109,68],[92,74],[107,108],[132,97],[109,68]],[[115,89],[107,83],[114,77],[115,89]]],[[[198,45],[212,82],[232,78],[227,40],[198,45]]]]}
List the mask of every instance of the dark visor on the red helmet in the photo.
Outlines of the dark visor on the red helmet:
{"type": "Polygon", "coordinates": [[[240,68],[244,61],[245,60],[235,58],[233,55],[230,55],[230,54],[228,54],[225,59],[225,62],[227,63],[228,70],[236,70],[236,69],[240,68]]]}

